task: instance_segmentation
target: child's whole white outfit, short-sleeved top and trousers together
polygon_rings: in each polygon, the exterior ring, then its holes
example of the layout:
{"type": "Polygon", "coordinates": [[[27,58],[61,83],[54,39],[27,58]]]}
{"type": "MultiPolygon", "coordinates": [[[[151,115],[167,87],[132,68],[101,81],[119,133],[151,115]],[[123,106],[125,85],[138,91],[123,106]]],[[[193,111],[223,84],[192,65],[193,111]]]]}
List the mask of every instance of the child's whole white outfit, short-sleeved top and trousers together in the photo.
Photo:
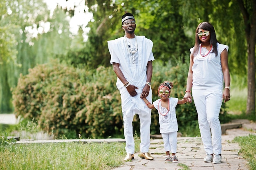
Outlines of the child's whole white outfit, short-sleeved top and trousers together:
{"type": "Polygon", "coordinates": [[[164,150],[166,152],[171,151],[171,153],[176,153],[177,151],[178,122],[176,118],[176,106],[178,100],[175,97],[169,98],[169,111],[165,107],[162,107],[161,99],[153,102],[159,114],[160,133],[164,141],[164,150]]]}

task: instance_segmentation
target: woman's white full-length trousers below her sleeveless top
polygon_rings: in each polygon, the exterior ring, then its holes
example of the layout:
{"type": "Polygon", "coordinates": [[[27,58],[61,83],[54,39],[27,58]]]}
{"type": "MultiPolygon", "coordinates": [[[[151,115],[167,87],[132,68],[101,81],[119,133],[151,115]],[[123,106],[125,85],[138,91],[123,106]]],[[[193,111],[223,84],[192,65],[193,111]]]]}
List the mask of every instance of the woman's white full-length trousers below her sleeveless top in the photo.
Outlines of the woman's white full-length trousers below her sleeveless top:
{"type": "Polygon", "coordinates": [[[222,89],[193,89],[193,99],[198,113],[198,124],[208,154],[221,154],[220,108],[222,89]],[[212,136],[212,138],[211,138],[212,136]]]}

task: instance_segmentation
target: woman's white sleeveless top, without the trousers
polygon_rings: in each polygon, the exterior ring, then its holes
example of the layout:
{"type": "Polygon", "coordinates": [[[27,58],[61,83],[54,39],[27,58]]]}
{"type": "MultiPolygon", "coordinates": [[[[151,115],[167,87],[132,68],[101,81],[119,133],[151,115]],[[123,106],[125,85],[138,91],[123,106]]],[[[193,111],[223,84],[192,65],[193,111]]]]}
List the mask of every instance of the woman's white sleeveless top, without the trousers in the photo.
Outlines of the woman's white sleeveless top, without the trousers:
{"type": "MultiPolygon", "coordinates": [[[[201,47],[201,44],[200,44],[201,47]]],[[[220,53],[224,49],[229,50],[229,47],[224,44],[217,44],[218,47],[218,56],[215,55],[212,51],[202,57],[200,55],[200,48],[198,54],[194,56],[194,64],[192,66],[193,71],[193,89],[207,89],[211,88],[223,88],[223,73],[220,62],[220,53]]],[[[190,49],[191,53],[193,48],[190,49]]]]}

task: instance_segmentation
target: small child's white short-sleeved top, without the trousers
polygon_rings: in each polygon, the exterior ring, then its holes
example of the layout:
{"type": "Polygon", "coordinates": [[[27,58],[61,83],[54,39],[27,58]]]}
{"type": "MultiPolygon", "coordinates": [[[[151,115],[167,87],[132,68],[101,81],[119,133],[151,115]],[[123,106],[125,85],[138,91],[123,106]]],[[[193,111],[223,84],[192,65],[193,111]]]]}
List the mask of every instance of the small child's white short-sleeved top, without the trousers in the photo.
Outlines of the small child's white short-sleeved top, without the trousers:
{"type": "Polygon", "coordinates": [[[176,118],[176,106],[178,104],[178,98],[170,97],[169,102],[169,111],[167,114],[167,109],[161,105],[161,99],[153,102],[153,105],[158,110],[160,133],[178,131],[178,122],[176,118]],[[162,115],[160,113],[162,113],[162,115]]]}

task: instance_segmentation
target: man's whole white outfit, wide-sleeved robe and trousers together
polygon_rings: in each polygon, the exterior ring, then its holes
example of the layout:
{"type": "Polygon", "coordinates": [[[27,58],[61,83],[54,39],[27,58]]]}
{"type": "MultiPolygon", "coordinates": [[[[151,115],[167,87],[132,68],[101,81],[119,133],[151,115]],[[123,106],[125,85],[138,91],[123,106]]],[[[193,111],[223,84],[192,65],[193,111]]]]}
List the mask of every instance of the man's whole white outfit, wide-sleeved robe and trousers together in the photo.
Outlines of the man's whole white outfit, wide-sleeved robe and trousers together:
{"type": "MultiPolygon", "coordinates": [[[[133,64],[130,62],[131,54],[127,49],[126,37],[121,37],[116,40],[108,41],[108,49],[111,55],[110,64],[119,63],[119,68],[124,74],[130,84],[135,85],[138,89],[135,97],[130,96],[126,87],[117,77],[117,88],[121,94],[121,106],[124,119],[124,137],[126,139],[126,152],[134,154],[135,143],[132,132],[133,116],[138,113],[140,119],[140,151],[148,152],[150,146],[150,124],[151,124],[151,109],[149,109],[145,102],[140,98],[142,90],[147,81],[147,64],[148,61],[153,61],[152,53],[153,42],[145,36],[136,36],[138,61],[133,64]]],[[[135,39],[135,40],[136,40],[135,39]]],[[[132,41],[132,40],[131,40],[132,41]]],[[[152,90],[148,97],[149,102],[152,102],[152,90]]]]}

